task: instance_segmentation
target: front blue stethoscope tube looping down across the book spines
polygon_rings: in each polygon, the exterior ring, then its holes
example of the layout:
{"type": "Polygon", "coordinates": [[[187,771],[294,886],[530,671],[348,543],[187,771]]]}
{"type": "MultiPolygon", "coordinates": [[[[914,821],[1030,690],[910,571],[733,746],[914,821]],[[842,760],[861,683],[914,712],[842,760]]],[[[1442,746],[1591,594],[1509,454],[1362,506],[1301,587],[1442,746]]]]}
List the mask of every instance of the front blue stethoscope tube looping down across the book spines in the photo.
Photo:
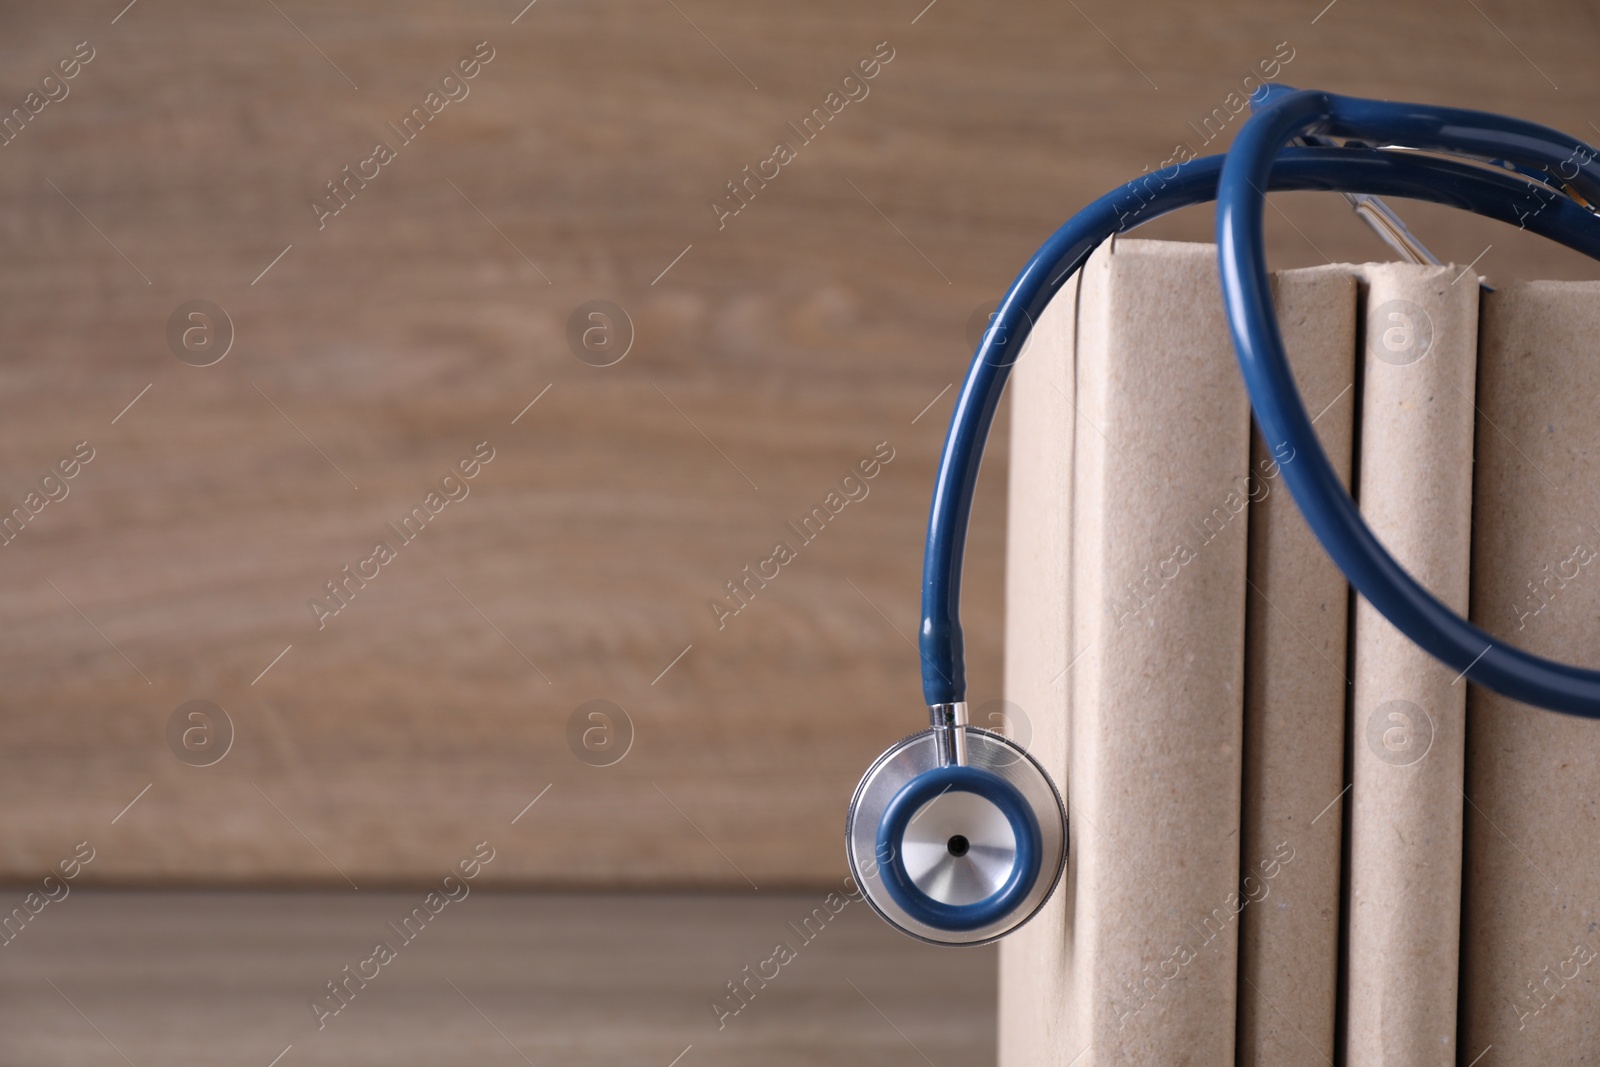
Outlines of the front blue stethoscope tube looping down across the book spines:
{"type": "MultiPolygon", "coordinates": [[[[1245,123],[1227,154],[1218,186],[1216,235],[1222,302],[1256,421],[1275,454],[1293,458],[1282,464],[1285,483],[1350,584],[1400,632],[1472,681],[1523,704],[1600,717],[1600,670],[1525,653],[1451,611],[1395,561],[1328,462],[1278,333],[1262,237],[1261,190],[1283,142],[1304,133],[1506,158],[1544,168],[1586,198],[1600,200],[1595,149],[1554,130],[1494,115],[1280,91],[1245,123]]],[[[1541,208],[1518,221],[1600,258],[1600,219],[1570,197],[1541,202],[1541,208]]],[[[1483,213],[1504,218],[1502,211],[1483,213]]]]}

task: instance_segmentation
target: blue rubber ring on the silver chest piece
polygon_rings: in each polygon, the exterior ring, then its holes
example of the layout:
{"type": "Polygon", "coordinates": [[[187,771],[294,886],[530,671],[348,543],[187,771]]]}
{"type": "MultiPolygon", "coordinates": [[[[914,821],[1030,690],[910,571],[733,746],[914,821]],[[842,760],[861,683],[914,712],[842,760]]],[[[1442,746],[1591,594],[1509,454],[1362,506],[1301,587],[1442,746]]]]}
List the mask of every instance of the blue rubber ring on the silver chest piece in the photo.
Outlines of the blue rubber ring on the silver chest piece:
{"type": "Polygon", "coordinates": [[[978,929],[1010,915],[1034,891],[1043,851],[1038,819],[1018,787],[994,771],[976,766],[939,766],[923,771],[894,793],[883,809],[883,817],[878,819],[877,854],[888,856],[882,864],[883,888],[907,915],[934,929],[978,929]],[[990,801],[1005,814],[1016,837],[1011,873],[998,889],[973,904],[934,901],[917,888],[906,870],[902,848],[906,829],[925,803],[947,792],[976,793],[990,801]]]}

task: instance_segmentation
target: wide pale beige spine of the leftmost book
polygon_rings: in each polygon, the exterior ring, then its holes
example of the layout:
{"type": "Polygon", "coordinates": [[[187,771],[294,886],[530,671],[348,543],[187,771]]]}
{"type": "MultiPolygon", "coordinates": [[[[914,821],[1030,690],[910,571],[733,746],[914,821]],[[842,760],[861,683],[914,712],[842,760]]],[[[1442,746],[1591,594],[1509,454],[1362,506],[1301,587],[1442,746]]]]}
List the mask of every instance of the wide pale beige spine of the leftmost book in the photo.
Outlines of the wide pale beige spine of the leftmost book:
{"type": "Polygon", "coordinates": [[[1216,250],[1102,246],[1077,357],[1059,1062],[1230,1064],[1250,411],[1216,250]]]}

